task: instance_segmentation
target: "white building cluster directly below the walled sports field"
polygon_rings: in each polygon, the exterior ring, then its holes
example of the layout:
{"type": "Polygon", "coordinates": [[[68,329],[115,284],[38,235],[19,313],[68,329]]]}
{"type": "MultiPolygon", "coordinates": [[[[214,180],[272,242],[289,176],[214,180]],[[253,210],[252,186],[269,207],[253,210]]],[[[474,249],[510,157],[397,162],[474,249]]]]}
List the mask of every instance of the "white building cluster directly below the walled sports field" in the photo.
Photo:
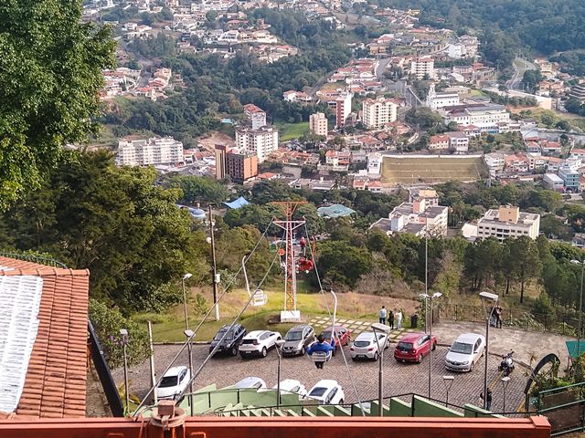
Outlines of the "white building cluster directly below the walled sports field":
{"type": "Polygon", "coordinates": [[[410,233],[412,235],[444,236],[447,235],[449,208],[432,204],[433,200],[413,197],[411,203],[401,203],[388,218],[383,217],[370,228],[376,227],[387,235],[410,233]]]}

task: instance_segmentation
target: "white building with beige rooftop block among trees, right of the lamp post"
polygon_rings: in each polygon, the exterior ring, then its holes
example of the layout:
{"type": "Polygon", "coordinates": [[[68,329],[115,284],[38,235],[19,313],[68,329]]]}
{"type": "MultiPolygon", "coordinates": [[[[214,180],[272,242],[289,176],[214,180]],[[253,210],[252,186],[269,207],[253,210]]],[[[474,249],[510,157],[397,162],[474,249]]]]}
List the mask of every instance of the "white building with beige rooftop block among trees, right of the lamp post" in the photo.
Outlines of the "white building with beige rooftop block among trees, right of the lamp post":
{"type": "Polygon", "coordinates": [[[540,214],[522,213],[519,207],[510,205],[488,210],[477,221],[477,237],[495,237],[500,242],[508,237],[527,235],[536,239],[540,231],[540,214]]]}

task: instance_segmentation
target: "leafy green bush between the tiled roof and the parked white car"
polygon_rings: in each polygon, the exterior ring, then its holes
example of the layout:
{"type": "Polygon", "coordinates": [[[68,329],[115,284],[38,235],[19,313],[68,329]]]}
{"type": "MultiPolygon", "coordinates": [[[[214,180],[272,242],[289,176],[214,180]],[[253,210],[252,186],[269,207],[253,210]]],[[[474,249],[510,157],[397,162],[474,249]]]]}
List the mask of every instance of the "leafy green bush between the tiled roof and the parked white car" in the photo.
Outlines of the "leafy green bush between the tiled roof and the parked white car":
{"type": "Polygon", "coordinates": [[[148,333],[132,319],[124,318],[118,308],[111,308],[90,298],[90,320],[106,353],[110,368],[123,364],[122,336],[120,329],[128,330],[127,358],[129,364],[140,363],[148,357],[148,333]]]}

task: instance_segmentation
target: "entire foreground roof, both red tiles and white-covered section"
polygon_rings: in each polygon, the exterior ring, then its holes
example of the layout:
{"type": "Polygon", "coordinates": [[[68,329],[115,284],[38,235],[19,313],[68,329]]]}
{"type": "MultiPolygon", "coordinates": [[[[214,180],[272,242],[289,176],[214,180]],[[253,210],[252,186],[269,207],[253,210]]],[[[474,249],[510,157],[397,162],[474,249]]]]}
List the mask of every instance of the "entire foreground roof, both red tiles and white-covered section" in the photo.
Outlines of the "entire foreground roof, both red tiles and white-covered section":
{"type": "Polygon", "coordinates": [[[87,269],[0,256],[0,417],[85,417],[89,291],[87,269]]]}

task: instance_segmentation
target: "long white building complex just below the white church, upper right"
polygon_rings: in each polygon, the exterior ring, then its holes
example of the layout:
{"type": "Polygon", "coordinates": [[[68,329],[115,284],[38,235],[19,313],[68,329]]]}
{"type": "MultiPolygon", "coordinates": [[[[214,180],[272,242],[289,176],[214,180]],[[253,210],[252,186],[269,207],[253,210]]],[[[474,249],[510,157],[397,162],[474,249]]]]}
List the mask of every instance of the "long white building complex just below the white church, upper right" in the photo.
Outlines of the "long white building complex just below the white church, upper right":
{"type": "Polygon", "coordinates": [[[470,104],[444,107],[440,110],[445,124],[452,121],[459,126],[474,126],[484,132],[499,131],[497,124],[509,122],[510,113],[504,105],[470,104]]]}

